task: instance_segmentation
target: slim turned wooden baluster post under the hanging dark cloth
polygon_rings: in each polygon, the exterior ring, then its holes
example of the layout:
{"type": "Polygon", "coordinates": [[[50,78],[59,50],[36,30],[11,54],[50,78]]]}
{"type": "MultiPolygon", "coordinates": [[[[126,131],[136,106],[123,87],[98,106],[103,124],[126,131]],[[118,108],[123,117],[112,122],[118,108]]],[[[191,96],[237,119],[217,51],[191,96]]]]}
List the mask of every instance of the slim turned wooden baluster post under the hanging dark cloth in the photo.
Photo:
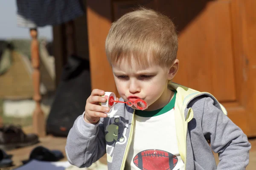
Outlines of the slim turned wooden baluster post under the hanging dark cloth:
{"type": "Polygon", "coordinates": [[[33,129],[38,136],[45,136],[45,118],[44,112],[41,110],[41,94],[40,94],[40,58],[39,58],[39,43],[37,29],[30,29],[31,41],[31,64],[33,68],[32,81],[34,88],[35,111],[33,112],[33,129]]]}

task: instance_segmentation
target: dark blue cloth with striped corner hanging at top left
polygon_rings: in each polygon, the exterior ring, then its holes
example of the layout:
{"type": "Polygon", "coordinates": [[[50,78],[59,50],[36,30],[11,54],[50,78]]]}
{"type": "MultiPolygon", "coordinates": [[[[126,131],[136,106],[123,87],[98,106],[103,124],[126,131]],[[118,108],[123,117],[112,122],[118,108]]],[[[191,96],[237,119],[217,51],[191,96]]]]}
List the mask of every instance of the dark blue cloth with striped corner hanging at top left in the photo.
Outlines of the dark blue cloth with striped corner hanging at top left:
{"type": "Polygon", "coordinates": [[[57,25],[84,14],[80,0],[16,0],[17,26],[57,25]]]}

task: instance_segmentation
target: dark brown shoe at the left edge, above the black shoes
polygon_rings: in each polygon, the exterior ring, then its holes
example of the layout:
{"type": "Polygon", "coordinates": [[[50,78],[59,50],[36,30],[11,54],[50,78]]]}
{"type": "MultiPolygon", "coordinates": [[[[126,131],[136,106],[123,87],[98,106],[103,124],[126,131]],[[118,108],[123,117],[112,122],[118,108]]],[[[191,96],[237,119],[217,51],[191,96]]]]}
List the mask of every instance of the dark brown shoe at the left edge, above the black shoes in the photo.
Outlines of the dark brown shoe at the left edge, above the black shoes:
{"type": "Polygon", "coordinates": [[[11,150],[38,142],[36,134],[25,134],[19,126],[6,125],[0,127],[0,149],[11,150]]]}

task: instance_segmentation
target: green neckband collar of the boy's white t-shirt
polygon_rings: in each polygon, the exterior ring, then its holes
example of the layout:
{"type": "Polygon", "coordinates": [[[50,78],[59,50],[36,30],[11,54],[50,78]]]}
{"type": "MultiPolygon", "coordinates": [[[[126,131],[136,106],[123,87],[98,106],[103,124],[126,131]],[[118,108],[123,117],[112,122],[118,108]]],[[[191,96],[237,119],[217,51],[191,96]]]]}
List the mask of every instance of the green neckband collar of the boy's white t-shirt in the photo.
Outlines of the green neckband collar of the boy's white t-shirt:
{"type": "Polygon", "coordinates": [[[163,113],[166,113],[166,112],[172,110],[172,108],[174,108],[175,100],[176,100],[176,94],[177,94],[177,91],[174,91],[174,96],[173,96],[172,100],[167,105],[165,105],[163,108],[157,109],[155,111],[136,110],[135,114],[137,116],[141,116],[141,117],[153,117],[153,116],[159,116],[163,113]]]}

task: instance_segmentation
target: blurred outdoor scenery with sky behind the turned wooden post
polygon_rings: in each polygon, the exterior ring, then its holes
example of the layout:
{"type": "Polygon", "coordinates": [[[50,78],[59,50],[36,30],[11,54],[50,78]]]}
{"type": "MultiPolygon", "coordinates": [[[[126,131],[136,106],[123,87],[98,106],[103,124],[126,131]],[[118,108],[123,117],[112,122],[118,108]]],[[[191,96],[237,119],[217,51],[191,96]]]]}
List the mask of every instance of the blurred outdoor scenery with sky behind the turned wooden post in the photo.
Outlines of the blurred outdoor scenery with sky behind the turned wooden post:
{"type": "MultiPolygon", "coordinates": [[[[31,125],[31,113],[35,108],[30,64],[31,37],[28,28],[17,26],[16,14],[15,0],[0,0],[0,115],[4,123],[26,126],[31,125]],[[16,54],[12,55],[12,51],[16,54]]],[[[50,67],[48,72],[52,74],[50,91],[54,91],[52,26],[38,28],[38,31],[41,48],[44,48],[41,52],[47,58],[47,65],[50,67]]],[[[49,106],[50,104],[44,105],[47,113],[49,106]]]]}

